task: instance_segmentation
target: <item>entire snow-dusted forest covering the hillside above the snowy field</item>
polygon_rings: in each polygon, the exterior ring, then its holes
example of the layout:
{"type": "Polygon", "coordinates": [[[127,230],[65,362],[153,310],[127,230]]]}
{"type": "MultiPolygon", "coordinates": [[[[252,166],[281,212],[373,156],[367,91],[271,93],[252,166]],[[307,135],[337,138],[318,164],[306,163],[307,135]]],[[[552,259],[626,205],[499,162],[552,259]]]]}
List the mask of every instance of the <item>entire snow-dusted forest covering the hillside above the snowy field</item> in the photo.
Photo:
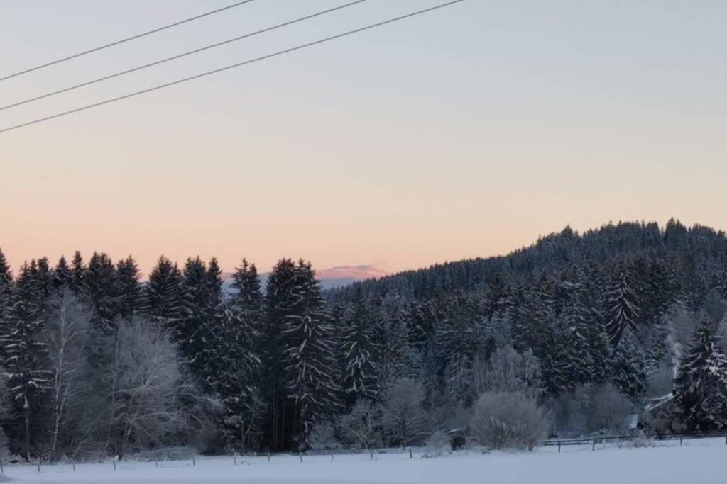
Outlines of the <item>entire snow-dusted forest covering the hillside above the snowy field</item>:
{"type": "MultiPolygon", "coordinates": [[[[569,227],[509,255],[323,291],[283,258],[0,252],[0,446],[84,461],[370,450],[448,440],[727,428],[727,239],[651,222],[569,227]],[[513,428],[510,422],[521,422],[513,428]],[[673,425],[673,424],[670,424],[673,425]],[[673,430],[673,429],[671,429],[673,430]]],[[[4,451],[4,449],[3,449],[4,451]]]]}

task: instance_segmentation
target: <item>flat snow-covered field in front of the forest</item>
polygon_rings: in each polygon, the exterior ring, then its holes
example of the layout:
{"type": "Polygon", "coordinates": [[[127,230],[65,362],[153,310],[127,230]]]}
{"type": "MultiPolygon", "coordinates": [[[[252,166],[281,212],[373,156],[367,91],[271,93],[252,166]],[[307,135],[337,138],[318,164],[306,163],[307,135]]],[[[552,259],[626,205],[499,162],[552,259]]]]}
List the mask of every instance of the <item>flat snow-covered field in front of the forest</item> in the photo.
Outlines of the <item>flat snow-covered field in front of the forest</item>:
{"type": "Polygon", "coordinates": [[[727,482],[724,439],[678,441],[657,448],[591,451],[590,446],[541,448],[531,454],[455,454],[422,459],[414,454],[296,456],[198,459],[191,462],[17,465],[5,475],[23,483],[134,484],[718,484],[727,482]]]}

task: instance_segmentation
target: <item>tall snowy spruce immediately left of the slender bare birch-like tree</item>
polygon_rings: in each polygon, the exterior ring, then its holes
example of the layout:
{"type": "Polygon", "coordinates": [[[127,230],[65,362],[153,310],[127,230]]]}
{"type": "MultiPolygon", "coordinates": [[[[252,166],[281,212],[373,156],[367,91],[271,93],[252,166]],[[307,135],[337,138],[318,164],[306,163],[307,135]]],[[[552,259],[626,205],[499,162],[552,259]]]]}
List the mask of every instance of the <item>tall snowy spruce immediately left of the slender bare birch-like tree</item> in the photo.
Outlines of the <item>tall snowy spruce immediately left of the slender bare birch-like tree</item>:
{"type": "Polygon", "coordinates": [[[44,322],[43,291],[37,278],[36,262],[25,264],[0,324],[4,360],[4,378],[10,401],[11,435],[22,442],[17,446],[30,459],[43,433],[41,425],[42,395],[48,388],[48,372],[44,367],[46,346],[39,334],[44,322]]]}

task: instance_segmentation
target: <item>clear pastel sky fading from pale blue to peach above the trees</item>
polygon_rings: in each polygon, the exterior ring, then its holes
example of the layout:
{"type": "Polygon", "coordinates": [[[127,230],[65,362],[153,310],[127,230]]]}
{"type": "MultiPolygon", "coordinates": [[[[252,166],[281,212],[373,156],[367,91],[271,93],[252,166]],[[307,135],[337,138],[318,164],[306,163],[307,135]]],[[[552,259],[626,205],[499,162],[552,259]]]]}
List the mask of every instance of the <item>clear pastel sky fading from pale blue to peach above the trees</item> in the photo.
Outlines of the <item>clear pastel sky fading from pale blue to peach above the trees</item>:
{"type": "MultiPolygon", "coordinates": [[[[233,3],[3,0],[0,76],[233,3]]],[[[0,104],[345,3],[255,0],[0,82],[0,104]]],[[[369,0],[0,111],[0,128],[437,4],[369,0]]],[[[727,2],[466,0],[0,134],[0,247],[387,271],[570,224],[727,229],[727,2]]]]}

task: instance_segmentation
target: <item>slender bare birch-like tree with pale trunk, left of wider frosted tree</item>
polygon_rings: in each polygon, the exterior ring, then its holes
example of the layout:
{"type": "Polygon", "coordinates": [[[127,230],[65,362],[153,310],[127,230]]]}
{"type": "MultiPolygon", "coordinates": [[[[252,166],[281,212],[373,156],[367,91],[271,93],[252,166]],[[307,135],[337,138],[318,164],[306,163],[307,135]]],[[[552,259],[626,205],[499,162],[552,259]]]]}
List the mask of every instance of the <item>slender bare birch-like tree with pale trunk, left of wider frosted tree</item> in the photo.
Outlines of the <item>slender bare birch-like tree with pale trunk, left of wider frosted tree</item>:
{"type": "Polygon", "coordinates": [[[51,443],[55,458],[67,430],[70,407],[89,388],[87,343],[89,314],[70,290],[54,301],[54,311],[44,328],[50,366],[51,443]]]}

